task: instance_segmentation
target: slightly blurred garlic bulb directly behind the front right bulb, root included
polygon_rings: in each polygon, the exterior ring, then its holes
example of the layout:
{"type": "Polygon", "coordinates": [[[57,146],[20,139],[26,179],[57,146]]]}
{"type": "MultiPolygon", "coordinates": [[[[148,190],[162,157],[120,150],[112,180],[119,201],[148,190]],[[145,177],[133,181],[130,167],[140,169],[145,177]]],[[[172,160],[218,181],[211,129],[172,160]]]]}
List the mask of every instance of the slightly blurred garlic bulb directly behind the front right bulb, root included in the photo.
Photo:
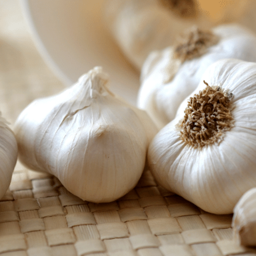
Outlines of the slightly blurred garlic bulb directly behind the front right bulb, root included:
{"type": "Polygon", "coordinates": [[[223,58],[256,62],[256,35],[236,24],[189,30],[178,46],[155,51],[142,68],[137,106],[164,127],[196,89],[206,68],[223,58]]]}

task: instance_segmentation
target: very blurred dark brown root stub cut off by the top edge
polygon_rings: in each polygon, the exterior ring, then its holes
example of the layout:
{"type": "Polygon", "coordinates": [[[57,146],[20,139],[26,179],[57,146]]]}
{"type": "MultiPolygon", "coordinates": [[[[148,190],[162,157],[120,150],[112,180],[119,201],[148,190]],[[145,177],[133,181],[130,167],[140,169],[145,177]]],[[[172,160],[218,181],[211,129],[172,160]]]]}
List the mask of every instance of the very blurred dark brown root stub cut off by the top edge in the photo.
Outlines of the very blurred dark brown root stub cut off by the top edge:
{"type": "Polygon", "coordinates": [[[182,18],[196,16],[196,5],[194,0],[160,0],[163,5],[182,18]]]}

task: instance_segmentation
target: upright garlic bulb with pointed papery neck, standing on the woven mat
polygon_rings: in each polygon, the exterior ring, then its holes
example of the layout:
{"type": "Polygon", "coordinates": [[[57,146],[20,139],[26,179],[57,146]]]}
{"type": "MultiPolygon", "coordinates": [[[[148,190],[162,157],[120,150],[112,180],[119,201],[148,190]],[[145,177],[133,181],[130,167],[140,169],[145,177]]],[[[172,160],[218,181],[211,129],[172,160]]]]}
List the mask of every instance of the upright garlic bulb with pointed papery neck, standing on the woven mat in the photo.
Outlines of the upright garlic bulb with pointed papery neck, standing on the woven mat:
{"type": "Polygon", "coordinates": [[[58,95],[33,101],[15,123],[19,159],[55,175],[83,200],[110,202],[138,182],[156,127],[116,98],[95,67],[58,95]]]}

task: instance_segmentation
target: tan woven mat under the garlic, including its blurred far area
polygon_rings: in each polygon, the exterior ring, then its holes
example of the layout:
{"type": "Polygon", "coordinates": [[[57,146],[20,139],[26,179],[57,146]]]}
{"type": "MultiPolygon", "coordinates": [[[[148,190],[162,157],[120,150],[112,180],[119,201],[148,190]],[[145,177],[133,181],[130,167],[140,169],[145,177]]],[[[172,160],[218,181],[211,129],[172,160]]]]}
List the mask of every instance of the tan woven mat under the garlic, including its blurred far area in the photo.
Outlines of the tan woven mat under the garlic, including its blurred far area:
{"type": "MultiPolygon", "coordinates": [[[[64,85],[34,47],[18,1],[0,1],[0,17],[0,109],[13,123],[34,98],[64,85]]],[[[70,194],[57,178],[17,163],[0,200],[0,255],[256,255],[232,240],[231,218],[165,191],[148,170],[126,196],[95,204],[70,194]]]]}

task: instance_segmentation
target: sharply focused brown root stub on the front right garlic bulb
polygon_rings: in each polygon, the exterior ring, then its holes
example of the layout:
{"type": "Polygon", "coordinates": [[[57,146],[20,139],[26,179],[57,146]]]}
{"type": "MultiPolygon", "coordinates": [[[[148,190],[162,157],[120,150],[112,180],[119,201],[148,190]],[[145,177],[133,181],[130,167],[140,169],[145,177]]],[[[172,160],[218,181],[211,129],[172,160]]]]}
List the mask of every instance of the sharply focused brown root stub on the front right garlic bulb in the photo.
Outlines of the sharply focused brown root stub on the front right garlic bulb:
{"type": "Polygon", "coordinates": [[[181,140],[195,148],[219,143],[233,126],[232,94],[204,83],[206,88],[189,99],[185,116],[178,123],[181,140]]]}

